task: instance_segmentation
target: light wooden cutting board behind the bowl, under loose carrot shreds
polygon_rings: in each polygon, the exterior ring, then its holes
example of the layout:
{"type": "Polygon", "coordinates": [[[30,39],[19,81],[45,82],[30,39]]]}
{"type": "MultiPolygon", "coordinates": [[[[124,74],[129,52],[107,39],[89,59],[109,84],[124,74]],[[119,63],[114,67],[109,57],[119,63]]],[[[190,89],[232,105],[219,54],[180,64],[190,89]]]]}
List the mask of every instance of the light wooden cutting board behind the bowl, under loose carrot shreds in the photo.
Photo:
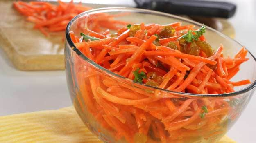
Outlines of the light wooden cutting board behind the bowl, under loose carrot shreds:
{"type": "MultiPolygon", "coordinates": [[[[64,32],[45,37],[12,7],[12,2],[0,0],[0,47],[13,65],[23,71],[63,70],[64,32]]],[[[217,21],[222,24],[224,34],[234,36],[227,20],[217,21]]]]}

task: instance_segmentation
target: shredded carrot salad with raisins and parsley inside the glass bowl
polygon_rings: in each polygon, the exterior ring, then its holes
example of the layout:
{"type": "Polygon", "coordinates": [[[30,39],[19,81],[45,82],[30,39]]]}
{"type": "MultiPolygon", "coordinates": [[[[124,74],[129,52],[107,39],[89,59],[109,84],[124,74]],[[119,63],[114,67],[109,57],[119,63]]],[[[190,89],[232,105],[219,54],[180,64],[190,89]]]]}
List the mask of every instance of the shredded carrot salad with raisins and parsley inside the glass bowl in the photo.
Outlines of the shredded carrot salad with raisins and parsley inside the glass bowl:
{"type": "MultiPolygon", "coordinates": [[[[247,50],[224,57],[204,37],[206,26],[128,24],[116,33],[83,29],[70,32],[75,46],[98,65],[133,81],[159,89],[192,94],[224,94],[249,80],[232,82],[247,50]]],[[[81,63],[82,60],[78,60],[81,63]]],[[[223,136],[234,100],[189,98],[146,86],[125,84],[97,69],[75,65],[87,110],[116,139],[128,143],[189,142],[223,136]]],[[[235,101],[236,102],[236,101],[235,101]]],[[[82,107],[82,105],[81,105],[82,107]]],[[[211,142],[211,141],[210,141],[211,142]]]]}

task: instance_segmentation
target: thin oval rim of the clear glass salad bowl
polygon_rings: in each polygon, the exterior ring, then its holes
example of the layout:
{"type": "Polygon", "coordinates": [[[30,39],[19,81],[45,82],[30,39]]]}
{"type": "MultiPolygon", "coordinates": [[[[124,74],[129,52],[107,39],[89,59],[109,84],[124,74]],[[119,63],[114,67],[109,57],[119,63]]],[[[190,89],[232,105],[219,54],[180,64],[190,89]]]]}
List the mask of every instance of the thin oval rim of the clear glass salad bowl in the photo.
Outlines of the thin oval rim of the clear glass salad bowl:
{"type": "MultiPolygon", "coordinates": [[[[97,63],[95,63],[93,60],[87,58],[86,56],[84,56],[84,54],[82,54],[82,52],[79,51],[79,49],[77,49],[77,47],[75,46],[75,44],[72,42],[71,38],[70,38],[70,27],[72,25],[72,23],[77,20],[78,18],[86,15],[86,14],[89,14],[89,13],[97,13],[97,11],[103,11],[103,10],[109,10],[109,12],[113,12],[111,10],[118,10],[118,11],[122,11],[122,10],[130,10],[130,11],[136,11],[136,12],[143,12],[143,13],[148,13],[148,14],[157,14],[157,15],[161,15],[161,16],[165,16],[165,17],[169,17],[169,18],[177,18],[177,19],[180,19],[180,20],[184,20],[186,22],[189,22],[189,23],[192,23],[192,24],[195,24],[197,26],[199,25],[202,25],[201,23],[199,22],[195,22],[193,20],[189,20],[187,18],[182,18],[180,16],[176,16],[176,15],[173,15],[173,14],[169,14],[169,13],[163,13],[163,12],[159,12],[159,11],[153,11],[153,10],[148,10],[148,9],[138,9],[138,8],[130,8],[130,7],[104,7],[104,8],[96,8],[96,9],[91,9],[91,10],[88,10],[88,11],[85,11],[83,13],[80,13],[78,14],[77,16],[75,16],[74,18],[72,18],[72,20],[70,20],[70,22],[68,23],[67,27],[66,27],[66,32],[65,32],[65,36],[66,36],[66,42],[69,44],[69,46],[71,47],[71,49],[73,51],[75,51],[75,53],[81,57],[83,60],[85,60],[86,62],[90,63],[91,65],[93,65],[95,68],[97,69],[100,69],[102,71],[105,71],[106,73],[110,74],[111,76],[114,76],[116,78],[122,78],[123,80],[128,80],[130,82],[132,82],[133,84],[138,84],[140,86],[146,86],[147,88],[153,88],[153,89],[157,89],[157,90],[161,90],[163,92],[168,92],[170,94],[179,94],[179,95],[183,95],[183,96],[188,96],[188,97],[229,97],[229,96],[237,96],[237,95],[240,95],[240,94],[243,94],[245,92],[248,92],[250,91],[251,89],[254,89],[254,87],[256,87],[256,80],[254,80],[253,83],[251,83],[251,85],[243,88],[243,89],[240,89],[236,92],[231,92],[231,93],[225,93],[225,94],[192,94],[192,93],[184,93],[184,92],[174,92],[174,91],[170,91],[170,90],[166,90],[166,89],[160,89],[158,87],[152,87],[152,86],[149,86],[149,85],[145,85],[145,84],[142,84],[142,83],[135,83],[133,80],[131,79],[128,79],[128,78],[125,78],[123,76],[120,76],[118,74],[115,74],[114,72],[98,65],[97,63]],[[73,47],[73,48],[72,48],[73,47]]],[[[206,26],[206,29],[208,30],[211,30],[215,33],[217,33],[218,35],[228,39],[228,40],[231,40],[233,42],[236,42],[237,44],[239,44],[241,47],[243,47],[239,42],[237,42],[236,40],[230,38],[229,36],[225,35],[225,34],[222,34],[221,32],[211,28],[211,27],[208,27],[206,26]]],[[[251,52],[247,49],[248,53],[254,58],[254,62],[256,63],[256,58],[251,54],[251,52]]]]}

